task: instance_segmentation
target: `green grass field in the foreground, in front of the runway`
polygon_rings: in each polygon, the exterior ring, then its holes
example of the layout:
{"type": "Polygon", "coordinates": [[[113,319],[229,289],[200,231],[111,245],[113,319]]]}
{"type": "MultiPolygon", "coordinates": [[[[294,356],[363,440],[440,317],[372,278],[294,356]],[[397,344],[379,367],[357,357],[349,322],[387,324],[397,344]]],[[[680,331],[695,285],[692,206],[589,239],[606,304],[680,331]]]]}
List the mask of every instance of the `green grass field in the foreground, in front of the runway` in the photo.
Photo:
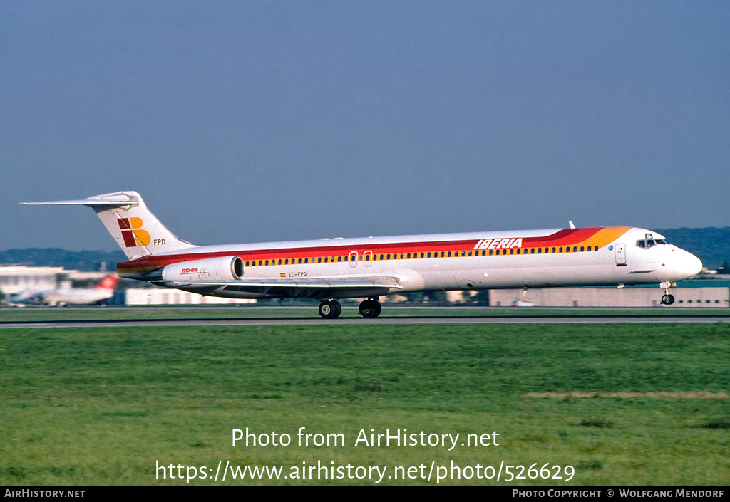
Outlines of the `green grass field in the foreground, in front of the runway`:
{"type": "MultiPolygon", "coordinates": [[[[0,333],[4,485],[185,484],[158,479],[157,462],[205,466],[212,476],[219,461],[285,466],[289,474],[291,466],[318,460],[327,467],[388,466],[381,484],[434,485],[435,479],[388,479],[395,466],[423,464],[427,474],[432,461],[575,468],[569,482],[506,483],[503,472],[499,484],[505,485],[724,485],[730,479],[730,326],[724,323],[0,333]],[[346,443],[300,447],[301,427],[342,434],[346,443]],[[288,433],[292,444],[233,447],[231,431],[246,428],[269,437],[288,433]],[[356,447],[361,429],[461,436],[451,451],[356,447]],[[461,446],[466,433],[493,431],[499,446],[461,446]]],[[[225,484],[374,482],[242,481],[228,474],[225,484]]],[[[440,484],[498,483],[474,477],[440,484]]]]}

